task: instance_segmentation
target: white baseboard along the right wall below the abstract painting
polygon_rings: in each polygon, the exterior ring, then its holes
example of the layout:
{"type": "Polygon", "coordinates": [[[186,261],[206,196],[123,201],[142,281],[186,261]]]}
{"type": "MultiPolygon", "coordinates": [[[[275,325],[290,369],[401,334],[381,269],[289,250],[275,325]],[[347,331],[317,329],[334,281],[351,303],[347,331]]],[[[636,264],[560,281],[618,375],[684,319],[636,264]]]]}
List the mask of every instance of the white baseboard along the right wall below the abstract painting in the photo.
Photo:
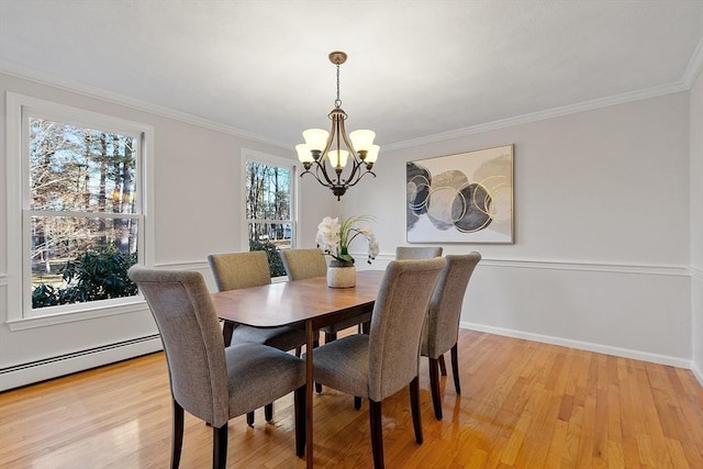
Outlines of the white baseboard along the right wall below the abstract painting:
{"type": "MultiPolygon", "coordinates": [[[[486,333],[495,334],[495,335],[503,335],[506,337],[524,338],[525,340],[539,342],[543,344],[559,345],[562,347],[576,348],[579,350],[595,351],[598,354],[613,355],[615,357],[632,358],[635,360],[650,361],[652,364],[668,365],[677,368],[685,368],[685,369],[692,370],[693,373],[696,375],[696,370],[693,368],[692,361],[684,358],[650,354],[648,351],[632,350],[628,348],[612,347],[607,345],[593,344],[589,342],[571,340],[562,337],[534,334],[534,333],[507,330],[502,327],[493,327],[493,326],[487,326],[483,324],[476,324],[476,323],[469,323],[469,322],[461,322],[459,326],[461,328],[467,328],[467,330],[478,331],[478,332],[486,332],[486,333]]],[[[699,380],[699,382],[703,384],[703,381],[701,380],[700,370],[699,370],[699,373],[696,375],[696,379],[699,380]]]]}

